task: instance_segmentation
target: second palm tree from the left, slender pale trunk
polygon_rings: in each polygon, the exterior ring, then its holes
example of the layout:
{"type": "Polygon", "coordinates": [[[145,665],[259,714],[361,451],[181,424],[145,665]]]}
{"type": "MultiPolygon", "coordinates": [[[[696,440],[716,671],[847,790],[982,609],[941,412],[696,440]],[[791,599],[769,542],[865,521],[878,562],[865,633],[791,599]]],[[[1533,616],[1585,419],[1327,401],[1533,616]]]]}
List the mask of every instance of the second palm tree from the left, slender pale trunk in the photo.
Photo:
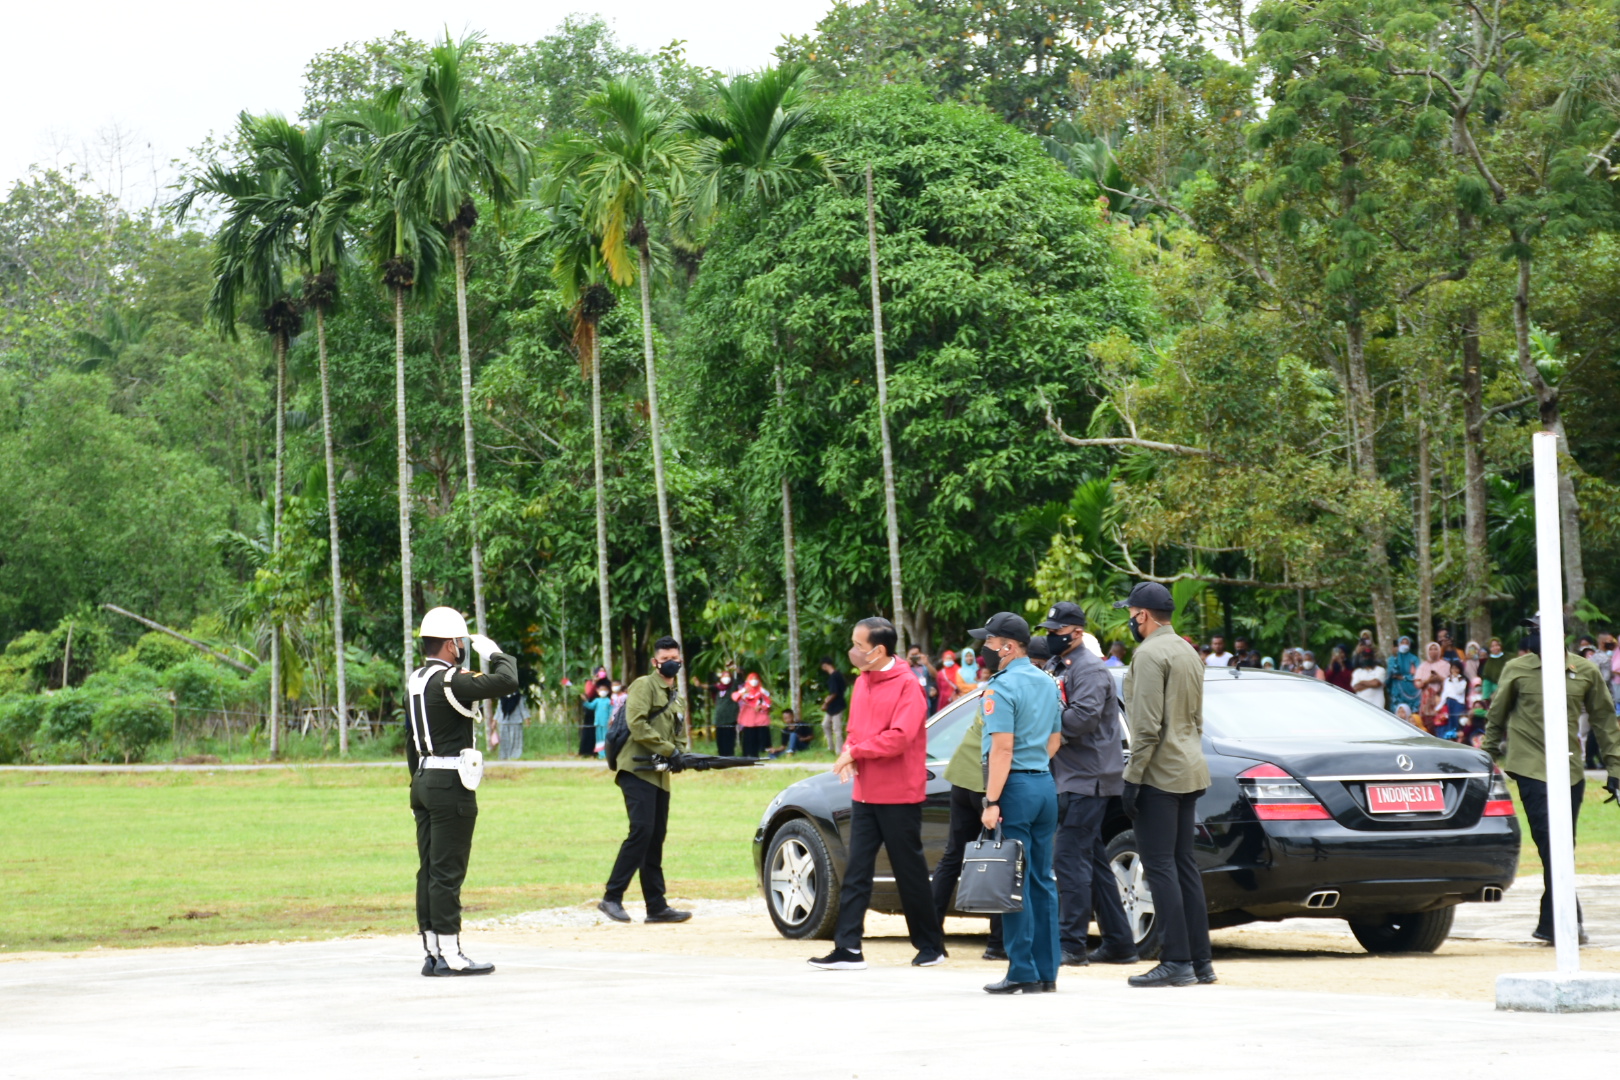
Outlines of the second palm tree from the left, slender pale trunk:
{"type": "Polygon", "coordinates": [[[327,546],[332,567],[332,649],[337,680],[337,748],[348,755],[348,677],[343,657],[343,568],[337,525],[337,455],[332,444],[332,382],[326,350],[326,316],[337,303],[337,269],[347,254],[352,219],[363,199],[358,170],[339,165],[326,123],[300,128],[266,115],[246,128],[248,147],[261,168],[277,170],[280,202],[266,217],[293,238],[303,270],[303,306],[314,311],[321,361],[321,431],[326,452],[327,546]]]}

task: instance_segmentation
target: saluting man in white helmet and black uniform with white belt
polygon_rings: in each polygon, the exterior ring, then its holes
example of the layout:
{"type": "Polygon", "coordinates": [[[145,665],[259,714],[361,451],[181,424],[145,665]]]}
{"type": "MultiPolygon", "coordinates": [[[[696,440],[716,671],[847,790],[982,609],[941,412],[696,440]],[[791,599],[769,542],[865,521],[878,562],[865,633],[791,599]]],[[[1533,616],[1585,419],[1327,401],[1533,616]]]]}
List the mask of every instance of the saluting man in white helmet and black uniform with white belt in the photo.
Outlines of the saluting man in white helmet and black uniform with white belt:
{"type": "Polygon", "coordinates": [[[410,808],[416,818],[416,928],[428,952],[423,975],[489,975],[462,952],[462,882],[478,824],[483,756],[473,724],[473,701],[517,693],[517,661],[483,635],[468,635],[454,607],[434,607],[421,619],[423,665],[407,680],[405,743],[410,763],[410,808]],[[460,667],[476,649],[484,672],[460,667]]]}

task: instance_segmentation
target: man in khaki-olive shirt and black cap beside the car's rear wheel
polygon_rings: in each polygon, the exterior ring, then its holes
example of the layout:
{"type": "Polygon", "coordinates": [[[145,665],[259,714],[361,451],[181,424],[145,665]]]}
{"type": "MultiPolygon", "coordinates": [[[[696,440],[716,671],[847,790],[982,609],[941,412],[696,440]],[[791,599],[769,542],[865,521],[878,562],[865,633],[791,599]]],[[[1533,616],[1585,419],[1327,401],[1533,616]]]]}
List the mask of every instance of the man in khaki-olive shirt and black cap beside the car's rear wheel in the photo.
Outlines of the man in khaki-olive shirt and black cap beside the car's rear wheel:
{"type": "Polygon", "coordinates": [[[1170,625],[1176,602],[1163,585],[1142,581],[1115,607],[1131,610],[1131,636],[1142,643],[1124,677],[1131,761],[1119,798],[1136,827],[1163,939],[1158,967],[1128,981],[1213,983],[1204,879],[1192,858],[1199,795],[1210,785],[1204,761],[1204,662],[1170,625]]]}

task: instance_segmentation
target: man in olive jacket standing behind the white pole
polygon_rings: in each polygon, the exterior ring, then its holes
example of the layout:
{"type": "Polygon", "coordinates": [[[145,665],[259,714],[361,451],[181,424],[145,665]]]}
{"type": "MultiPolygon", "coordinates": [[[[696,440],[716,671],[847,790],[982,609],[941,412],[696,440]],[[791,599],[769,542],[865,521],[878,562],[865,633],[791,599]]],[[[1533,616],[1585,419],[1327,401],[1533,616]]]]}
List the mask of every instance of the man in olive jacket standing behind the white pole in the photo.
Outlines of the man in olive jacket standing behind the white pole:
{"type": "MultiPolygon", "coordinates": [[[[1541,696],[1541,625],[1539,619],[1529,620],[1531,633],[1524,635],[1520,656],[1502,665],[1502,675],[1495,696],[1490,698],[1490,719],[1486,721],[1486,738],[1482,748],[1502,769],[1513,777],[1520,789],[1520,806],[1529,823],[1529,836],[1536,840],[1536,852],[1541,855],[1542,891],[1541,916],[1536,941],[1552,942],[1552,853],[1547,850],[1547,740],[1542,725],[1541,696]]],[[[1592,733],[1597,735],[1597,746],[1604,755],[1604,767],[1609,779],[1604,787],[1610,795],[1620,795],[1620,724],[1615,722],[1614,701],[1609,687],[1591,661],[1563,654],[1563,687],[1565,704],[1570,721],[1570,819],[1571,824],[1581,818],[1581,800],[1586,795],[1586,772],[1581,769],[1581,712],[1591,721],[1592,733]]],[[[1575,904],[1580,918],[1580,900],[1575,904]]],[[[1581,929],[1581,942],[1586,931],[1581,929]]]]}

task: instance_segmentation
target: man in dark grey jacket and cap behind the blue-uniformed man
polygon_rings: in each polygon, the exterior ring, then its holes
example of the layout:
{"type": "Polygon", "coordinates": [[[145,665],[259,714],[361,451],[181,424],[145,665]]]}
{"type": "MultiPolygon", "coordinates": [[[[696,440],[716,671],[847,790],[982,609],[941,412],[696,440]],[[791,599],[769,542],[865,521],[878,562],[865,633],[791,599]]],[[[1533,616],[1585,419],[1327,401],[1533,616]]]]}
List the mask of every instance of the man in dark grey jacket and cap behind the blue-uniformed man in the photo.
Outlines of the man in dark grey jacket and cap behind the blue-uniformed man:
{"type": "Polygon", "coordinates": [[[1085,612],[1079,604],[1053,604],[1042,627],[1053,654],[1047,670],[1063,683],[1063,745],[1051,758],[1051,776],[1058,782],[1051,868],[1058,874],[1063,963],[1136,963],[1136,936],[1103,844],[1108,805],[1124,790],[1119,696],[1102,657],[1082,641],[1085,612]],[[1102,944],[1087,954],[1085,931],[1094,910],[1102,944]]]}

